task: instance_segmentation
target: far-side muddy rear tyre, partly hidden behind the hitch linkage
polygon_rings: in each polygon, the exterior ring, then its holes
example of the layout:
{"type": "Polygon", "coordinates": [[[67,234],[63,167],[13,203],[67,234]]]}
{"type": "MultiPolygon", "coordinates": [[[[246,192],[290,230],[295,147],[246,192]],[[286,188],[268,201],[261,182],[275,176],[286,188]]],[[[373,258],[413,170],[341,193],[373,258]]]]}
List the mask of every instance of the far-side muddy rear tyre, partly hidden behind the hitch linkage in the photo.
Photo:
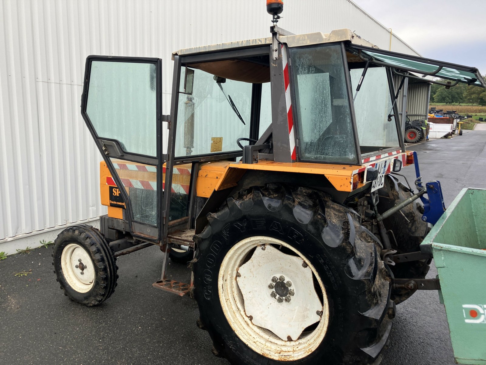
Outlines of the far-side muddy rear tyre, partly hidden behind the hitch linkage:
{"type": "MultiPolygon", "coordinates": [[[[380,201],[377,208],[380,214],[413,195],[408,187],[399,183],[395,177],[390,175],[386,175],[384,186],[378,190],[378,194],[380,201]]],[[[416,200],[401,209],[403,214],[398,212],[383,220],[386,229],[392,230],[397,240],[397,243],[395,243],[395,240],[391,240],[392,248],[397,250],[397,254],[420,251],[420,243],[430,231],[429,224],[422,220],[423,212],[422,203],[416,200]]],[[[396,278],[423,279],[429,272],[430,261],[402,262],[392,266],[391,270],[396,278]]],[[[414,292],[406,289],[394,289],[392,299],[396,304],[399,304],[408,299],[414,292]]]]}

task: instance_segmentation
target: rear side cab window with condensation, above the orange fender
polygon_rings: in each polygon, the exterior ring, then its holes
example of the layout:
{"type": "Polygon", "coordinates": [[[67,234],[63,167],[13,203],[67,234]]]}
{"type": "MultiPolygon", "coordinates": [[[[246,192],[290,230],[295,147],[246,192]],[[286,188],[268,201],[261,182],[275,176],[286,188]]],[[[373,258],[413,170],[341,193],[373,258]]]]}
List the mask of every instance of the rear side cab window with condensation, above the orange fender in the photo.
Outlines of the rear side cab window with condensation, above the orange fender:
{"type": "Polygon", "coordinates": [[[291,50],[300,159],[357,163],[340,44],[291,50]]]}

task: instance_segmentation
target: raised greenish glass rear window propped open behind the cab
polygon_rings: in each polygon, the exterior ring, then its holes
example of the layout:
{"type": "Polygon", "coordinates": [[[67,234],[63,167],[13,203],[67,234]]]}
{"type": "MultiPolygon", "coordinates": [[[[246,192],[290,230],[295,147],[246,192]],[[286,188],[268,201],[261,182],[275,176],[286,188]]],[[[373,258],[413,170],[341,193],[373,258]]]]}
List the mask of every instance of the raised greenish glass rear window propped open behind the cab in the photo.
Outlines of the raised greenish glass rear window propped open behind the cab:
{"type": "Polygon", "coordinates": [[[350,47],[350,50],[359,55],[364,61],[370,60],[371,63],[391,67],[400,73],[419,73],[486,88],[485,80],[475,67],[456,65],[364,46],[353,45],[350,47]]]}

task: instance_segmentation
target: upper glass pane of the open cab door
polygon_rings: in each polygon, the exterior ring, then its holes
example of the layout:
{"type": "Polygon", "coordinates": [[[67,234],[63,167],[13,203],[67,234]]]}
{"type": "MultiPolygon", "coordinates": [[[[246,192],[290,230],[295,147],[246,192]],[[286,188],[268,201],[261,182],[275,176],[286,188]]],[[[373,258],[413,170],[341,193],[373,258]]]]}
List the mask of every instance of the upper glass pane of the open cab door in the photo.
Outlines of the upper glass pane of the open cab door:
{"type": "Polygon", "coordinates": [[[156,156],[156,65],[92,61],[86,111],[98,137],[156,156]]]}

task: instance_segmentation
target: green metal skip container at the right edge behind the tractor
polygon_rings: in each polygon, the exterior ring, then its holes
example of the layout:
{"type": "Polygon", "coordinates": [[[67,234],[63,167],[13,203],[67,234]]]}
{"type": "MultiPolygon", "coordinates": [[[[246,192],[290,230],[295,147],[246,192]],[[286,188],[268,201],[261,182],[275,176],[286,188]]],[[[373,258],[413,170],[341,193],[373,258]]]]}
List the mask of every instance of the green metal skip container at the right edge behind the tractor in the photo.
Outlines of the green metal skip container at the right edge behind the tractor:
{"type": "Polygon", "coordinates": [[[486,365],[486,189],[462,189],[422,242],[429,244],[455,360],[486,365]]]}

